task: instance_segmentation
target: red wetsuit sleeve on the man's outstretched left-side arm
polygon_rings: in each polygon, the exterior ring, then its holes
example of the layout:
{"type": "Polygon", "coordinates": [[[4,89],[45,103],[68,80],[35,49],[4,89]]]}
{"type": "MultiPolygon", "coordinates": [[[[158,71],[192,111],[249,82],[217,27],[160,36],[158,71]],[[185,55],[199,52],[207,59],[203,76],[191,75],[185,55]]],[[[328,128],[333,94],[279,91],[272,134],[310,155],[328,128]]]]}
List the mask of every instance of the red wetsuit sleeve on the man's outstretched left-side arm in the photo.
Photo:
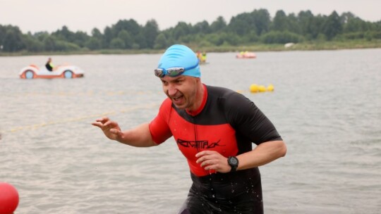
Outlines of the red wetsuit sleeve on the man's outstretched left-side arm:
{"type": "Polygon", "coordinates": [[[153,141],[156,144],[162,144],[164,141],[172,136],[171,130],[169,129],[169,113],[171,112],[171,101],[166,99],[162,106],[159,108],[159,113],[156,118],[150,122],[150,132],[153,141]]]}

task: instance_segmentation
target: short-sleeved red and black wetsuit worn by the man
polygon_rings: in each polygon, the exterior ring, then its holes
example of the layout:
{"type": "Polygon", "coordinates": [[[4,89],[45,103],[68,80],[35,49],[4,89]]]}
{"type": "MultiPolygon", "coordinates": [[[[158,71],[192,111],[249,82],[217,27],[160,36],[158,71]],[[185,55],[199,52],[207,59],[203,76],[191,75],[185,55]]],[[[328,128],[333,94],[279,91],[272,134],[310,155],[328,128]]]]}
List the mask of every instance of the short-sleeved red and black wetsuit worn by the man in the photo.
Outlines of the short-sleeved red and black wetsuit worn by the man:
{"type": "Polygon", "coordinates": [[[174,136],[188,160],[193,185],[181,213],[263,213],[258,168],[219,173],[195,163],[202,150],[237,156],[252,150],[252,143],[281,140],[272,122],[242,94],[205,86],[202,105],[195,112],[177,109],[164,100],[150,122],[153,140],[161,144],[174,136]]]}

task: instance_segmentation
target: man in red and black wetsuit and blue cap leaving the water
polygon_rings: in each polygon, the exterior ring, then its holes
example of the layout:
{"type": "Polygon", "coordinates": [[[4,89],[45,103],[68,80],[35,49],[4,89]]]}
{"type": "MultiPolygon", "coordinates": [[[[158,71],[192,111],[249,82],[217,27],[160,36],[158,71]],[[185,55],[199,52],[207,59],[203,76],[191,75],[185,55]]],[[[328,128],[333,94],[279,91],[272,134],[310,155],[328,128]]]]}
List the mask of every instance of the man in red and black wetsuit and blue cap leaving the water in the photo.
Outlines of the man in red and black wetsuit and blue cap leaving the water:
{"type": "Polygon", "coordinates": [[[168,98],[155,119],[125,131],[107,117],[92,125],[131,146],[174,137],[193,180],[179,213],[263,213],[258,167],[286,154],[272,122],[242,94],[202,84],[198,58],[187,46],[169,47],[157,67],[168,98]]]}

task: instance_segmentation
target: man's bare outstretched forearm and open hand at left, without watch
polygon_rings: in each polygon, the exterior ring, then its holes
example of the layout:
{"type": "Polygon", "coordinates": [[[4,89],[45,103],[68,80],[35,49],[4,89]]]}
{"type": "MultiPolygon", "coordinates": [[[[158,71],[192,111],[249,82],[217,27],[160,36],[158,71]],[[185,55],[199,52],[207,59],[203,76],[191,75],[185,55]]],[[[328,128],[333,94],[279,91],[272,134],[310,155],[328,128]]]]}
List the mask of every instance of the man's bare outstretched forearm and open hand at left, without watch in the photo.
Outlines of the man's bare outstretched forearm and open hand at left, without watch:
{"type": "Polygon", "coordinates": [[[92,125],[101,128],[104,135],[106,135],[109,139],[119,141],[122,144],[137,147],[157,146],[157,144],[152,140],[148,123],[139,125],[131,130],[121,131],[121,128],[117,122],[104,117],[95,120],[95,122],[92,122],[92,125]]]}

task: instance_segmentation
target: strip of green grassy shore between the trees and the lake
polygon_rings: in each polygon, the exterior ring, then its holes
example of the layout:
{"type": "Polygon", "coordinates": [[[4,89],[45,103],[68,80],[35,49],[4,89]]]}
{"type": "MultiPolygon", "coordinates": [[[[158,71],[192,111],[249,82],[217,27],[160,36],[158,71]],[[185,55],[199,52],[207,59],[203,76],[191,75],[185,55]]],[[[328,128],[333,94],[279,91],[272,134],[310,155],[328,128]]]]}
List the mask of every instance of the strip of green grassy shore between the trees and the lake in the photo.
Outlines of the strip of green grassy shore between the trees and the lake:
{"type": "MultiPolygon", "coordinates": [[[[197,46],[197,44],[189,45],[193,50],[211,52],[238,52],[238,51],[313,51],[313,50],[339,50],[339,49],[380,49],[381,39],[365,40],[349,40],[346,42],[303,42],[294,44],[289,48],[285,48],[284,44],[249,44],[242,46],[197,46]]],[[[0,56],[54,56],[54,55],[85,55],[85,54],[150,54],[163,53],[164,49],[138,49],[138,50],[121,50],[121,49],[102,49],[90,51],[81,49],[78,51],[59,51],[59,52],[1,52],[0,56]]]]}

